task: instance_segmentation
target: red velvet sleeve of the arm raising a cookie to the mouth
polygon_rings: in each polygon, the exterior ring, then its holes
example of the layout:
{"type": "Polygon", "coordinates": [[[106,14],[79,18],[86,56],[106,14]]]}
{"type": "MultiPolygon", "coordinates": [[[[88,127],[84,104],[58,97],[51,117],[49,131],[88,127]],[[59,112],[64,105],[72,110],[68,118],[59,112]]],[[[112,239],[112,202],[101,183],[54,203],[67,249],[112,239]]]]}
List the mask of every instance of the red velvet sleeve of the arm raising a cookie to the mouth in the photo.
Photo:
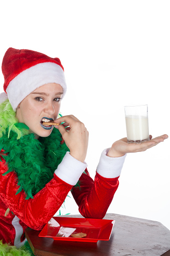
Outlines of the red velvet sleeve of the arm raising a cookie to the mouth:
{"type": "Polygon", "coordinates": [[[16,195],[19,189],[17,175],[11,172],[2,176],[7,170],[8,166],[2,159],[0,161],[0,197],[2,201],[27,226],[37,230],[42,229],[61,207],[72,186],[54,174],[54,178],[34,196],[34,199],[25,200],[24,191],[16,195]]]}

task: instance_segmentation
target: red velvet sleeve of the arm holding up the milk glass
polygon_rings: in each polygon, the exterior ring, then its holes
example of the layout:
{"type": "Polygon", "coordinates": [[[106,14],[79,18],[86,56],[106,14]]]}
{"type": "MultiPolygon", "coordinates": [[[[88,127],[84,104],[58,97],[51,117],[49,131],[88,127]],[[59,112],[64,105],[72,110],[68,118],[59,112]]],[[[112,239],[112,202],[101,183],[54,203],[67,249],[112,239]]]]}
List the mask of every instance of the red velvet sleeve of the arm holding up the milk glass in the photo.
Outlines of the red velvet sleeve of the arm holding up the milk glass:
{"type": "Polygon", "coordinates": [[[79,179],[80,187],[72,188],[72,195],[85,218],[104,218],[113,196],[118,188],[118,178],[103,178],[96,172],[95,180],[85,170],[79,179]]]}

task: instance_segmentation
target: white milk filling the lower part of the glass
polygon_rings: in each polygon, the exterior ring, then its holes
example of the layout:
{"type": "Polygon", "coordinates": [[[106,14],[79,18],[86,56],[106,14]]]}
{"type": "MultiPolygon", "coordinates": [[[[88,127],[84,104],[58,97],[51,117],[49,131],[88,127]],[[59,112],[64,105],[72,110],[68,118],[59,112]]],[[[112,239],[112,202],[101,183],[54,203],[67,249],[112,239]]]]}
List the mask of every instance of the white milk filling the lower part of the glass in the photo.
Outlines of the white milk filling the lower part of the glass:
{"type": "Polygon", "coordinates": [[[128,142],[149,140],[147,116],[126,116],[125,120],[128,142]]]}

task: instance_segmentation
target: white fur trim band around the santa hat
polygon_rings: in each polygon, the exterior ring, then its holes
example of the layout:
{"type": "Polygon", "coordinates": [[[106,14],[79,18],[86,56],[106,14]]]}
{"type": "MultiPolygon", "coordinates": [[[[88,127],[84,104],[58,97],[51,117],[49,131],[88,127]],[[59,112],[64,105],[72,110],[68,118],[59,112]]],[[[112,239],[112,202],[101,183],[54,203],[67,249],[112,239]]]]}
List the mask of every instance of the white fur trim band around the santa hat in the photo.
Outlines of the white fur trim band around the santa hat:
{"type": "Polygon", "coordinates": [[[64,97],[67,89],[64,71],[61,66],[53,62],[39,63],[18,74],[7,88],[8,98],[14,111],[20,102],[37,88],[53,82],[63,88],[64,97]]]}

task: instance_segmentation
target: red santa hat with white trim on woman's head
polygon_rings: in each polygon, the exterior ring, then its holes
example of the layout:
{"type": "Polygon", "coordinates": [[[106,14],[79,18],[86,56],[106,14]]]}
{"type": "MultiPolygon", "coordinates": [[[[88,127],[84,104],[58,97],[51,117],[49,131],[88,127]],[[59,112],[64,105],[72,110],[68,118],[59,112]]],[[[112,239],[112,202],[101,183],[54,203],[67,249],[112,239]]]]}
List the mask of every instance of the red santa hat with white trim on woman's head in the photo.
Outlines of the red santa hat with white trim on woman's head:
{"type": "Polygon", "coordinates": [[[7,99],[16,108],[30,93],[46,83],[59,83],[66,93],[64,68],[59,58],[51,58],[32,50],[9,48],[4,55],[2,70],[4,91],[0,103],[7,99]]]}

